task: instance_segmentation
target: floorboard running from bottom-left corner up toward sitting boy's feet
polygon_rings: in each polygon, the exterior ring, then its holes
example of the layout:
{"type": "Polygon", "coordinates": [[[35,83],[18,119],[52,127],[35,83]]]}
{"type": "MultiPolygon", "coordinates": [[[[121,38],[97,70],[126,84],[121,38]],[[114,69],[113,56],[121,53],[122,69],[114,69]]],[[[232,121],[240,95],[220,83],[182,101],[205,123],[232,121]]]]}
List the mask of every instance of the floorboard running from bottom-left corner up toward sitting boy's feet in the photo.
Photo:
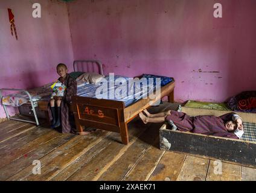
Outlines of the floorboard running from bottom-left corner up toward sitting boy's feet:
{"type": "Polygon", "coordinates": [[[54,151],[60,145],[74,137],[74,134],[62,134],[56,137],[53,136],[49,141],[46,141],[44,144],[41,144],[39,147],[26,153],[24,156],[18,157],[18,159],[15,159],[8,165],[2,167],[0,169],[0,180],[7,180],[22,169],[32,165],[34,160],[41,159],[43,156],[46,156],[46,154],[54,151]]]}

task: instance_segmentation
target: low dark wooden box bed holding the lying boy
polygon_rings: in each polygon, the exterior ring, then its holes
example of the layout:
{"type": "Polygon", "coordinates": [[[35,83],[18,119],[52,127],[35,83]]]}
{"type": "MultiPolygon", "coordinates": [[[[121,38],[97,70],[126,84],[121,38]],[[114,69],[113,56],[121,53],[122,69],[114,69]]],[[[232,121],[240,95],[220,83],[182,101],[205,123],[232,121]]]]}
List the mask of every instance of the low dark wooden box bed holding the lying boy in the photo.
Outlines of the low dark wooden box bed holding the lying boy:
{"type": "MultiPolygon", "coordinates": [[[[220,116],[231,111],[182,107],[182,112],[190,116],[220,116]]],[[[160,148],[256,167],[256,116],[254,113],[236,113],[242,117],[245,127],[242,139],[170,130],[170,125],[164,124],[159,130],[160,148]]]]}

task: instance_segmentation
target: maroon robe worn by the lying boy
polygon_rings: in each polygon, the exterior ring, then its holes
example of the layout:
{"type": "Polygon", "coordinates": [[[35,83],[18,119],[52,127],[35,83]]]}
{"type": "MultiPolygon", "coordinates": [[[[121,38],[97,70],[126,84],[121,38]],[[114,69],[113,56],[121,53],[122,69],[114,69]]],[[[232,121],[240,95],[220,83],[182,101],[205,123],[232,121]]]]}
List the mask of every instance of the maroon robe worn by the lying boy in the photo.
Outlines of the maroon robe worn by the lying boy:
{"type": "Polygon", "coordinates": [[[173,121],[180,131],[238,139],[234,133],[229,132],[225,127],[225,122],[232,121],[234,114],[228,113],[222,116],[203,115],[192,118],[185,113],[171,110],[171,115],[168,115],[166,120],[173,121]]]}

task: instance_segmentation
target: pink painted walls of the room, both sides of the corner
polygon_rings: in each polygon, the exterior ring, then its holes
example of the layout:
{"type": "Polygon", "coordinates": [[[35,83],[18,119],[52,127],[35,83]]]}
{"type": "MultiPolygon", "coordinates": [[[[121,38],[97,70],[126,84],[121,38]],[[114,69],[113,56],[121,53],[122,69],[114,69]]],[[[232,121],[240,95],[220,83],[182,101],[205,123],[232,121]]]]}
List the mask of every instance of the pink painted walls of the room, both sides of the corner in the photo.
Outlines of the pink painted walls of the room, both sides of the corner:
{"type": "Polygon", "coordinates": [[[0,1],[0,87],[41,86],[57,78],[57,63],[99,59],[106,73],[174,77],[177,101],[224,101],[256,89],[255,7],[255,0],[75,0],[68,9],[58,0],[0,1]],[[40,19],[31,16],[34,2],[40,19]],[[215,2],[222,19],[213,17],[215,2]]]}

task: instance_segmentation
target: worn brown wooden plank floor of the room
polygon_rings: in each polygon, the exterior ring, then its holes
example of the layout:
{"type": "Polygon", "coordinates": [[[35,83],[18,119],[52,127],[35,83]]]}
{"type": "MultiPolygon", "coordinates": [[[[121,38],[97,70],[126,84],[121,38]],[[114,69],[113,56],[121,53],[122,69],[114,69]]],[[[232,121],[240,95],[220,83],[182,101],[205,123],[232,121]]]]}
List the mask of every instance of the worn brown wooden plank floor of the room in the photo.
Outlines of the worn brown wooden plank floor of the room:
{"type": "MultiPolygon", "coordinates": [[[[164,109],[156,107],[152,111],[164,109]]],[[[129,145],[120,135],[97,130],[61,134],[47,125],[0,123],[0,180],[256,180],[256,169],[159,150],[159,124],[129,124],[129,145]],[[33,174],[40,160],[41,174],[33,174]]]]}

